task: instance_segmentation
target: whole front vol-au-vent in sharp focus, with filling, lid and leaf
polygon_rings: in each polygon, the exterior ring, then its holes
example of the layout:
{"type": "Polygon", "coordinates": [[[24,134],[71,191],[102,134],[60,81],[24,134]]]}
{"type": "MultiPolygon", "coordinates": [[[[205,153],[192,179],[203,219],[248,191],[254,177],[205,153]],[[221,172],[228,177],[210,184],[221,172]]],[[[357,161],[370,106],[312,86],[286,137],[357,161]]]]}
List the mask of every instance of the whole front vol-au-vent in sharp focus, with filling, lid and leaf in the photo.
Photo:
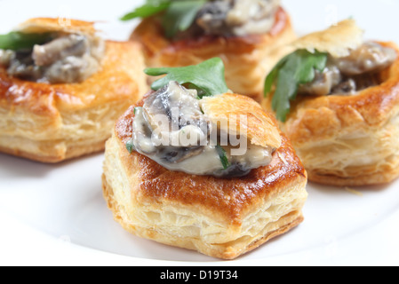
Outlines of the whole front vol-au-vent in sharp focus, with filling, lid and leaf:
{"type": "Polygon", "coordinates": [[[117,122],[103,190],[125,230],[233,259],[303,221],[307,173],[275,118],[228,91],[221,59],[166,74],[117,122]]]}

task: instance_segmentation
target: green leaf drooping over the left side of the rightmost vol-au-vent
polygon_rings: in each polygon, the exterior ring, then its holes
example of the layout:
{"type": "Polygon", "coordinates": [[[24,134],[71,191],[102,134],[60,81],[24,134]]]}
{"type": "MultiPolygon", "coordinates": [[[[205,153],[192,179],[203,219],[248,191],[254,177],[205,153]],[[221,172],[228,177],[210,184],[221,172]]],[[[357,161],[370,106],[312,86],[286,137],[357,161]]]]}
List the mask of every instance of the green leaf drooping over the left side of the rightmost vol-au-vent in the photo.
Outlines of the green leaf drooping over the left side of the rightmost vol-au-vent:
{"type": "Polygon", "coordinates": [[[290,113],[291,100],[296,99],[299,85],[315,80],[315,70],[323,71],[327,64],[327,53],[307,50],[294,51],[277,63],[267,75],[265,81],[265,96],[275,84],[275,94],[272,100],[273,110],[277,119],[285,122],[290,113]]]}

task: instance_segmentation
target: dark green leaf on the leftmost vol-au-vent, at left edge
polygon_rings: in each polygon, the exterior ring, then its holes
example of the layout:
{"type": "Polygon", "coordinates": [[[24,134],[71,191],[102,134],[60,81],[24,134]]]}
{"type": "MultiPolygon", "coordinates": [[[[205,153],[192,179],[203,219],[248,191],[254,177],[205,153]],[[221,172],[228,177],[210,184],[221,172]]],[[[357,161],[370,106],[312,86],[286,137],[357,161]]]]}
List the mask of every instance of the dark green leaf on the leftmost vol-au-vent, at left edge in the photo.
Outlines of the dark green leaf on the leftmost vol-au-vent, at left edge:
{"type": "Polygon", "coordinates": [[[12,51],[32,49],[36,44],[43,44],[51,39],[51,33],[24,34],[20,32],[11,32],[7,35],[0,35],[0,49],[12,51]]]}

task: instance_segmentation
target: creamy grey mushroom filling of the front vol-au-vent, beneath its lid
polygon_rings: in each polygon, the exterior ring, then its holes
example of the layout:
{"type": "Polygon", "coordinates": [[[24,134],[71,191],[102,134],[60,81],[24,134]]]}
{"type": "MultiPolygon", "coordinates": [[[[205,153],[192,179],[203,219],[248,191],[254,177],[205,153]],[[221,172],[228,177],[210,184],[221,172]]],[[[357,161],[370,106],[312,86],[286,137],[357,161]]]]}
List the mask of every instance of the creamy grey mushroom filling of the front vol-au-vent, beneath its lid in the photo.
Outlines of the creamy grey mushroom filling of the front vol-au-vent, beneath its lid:
{"type": "Polygon", "coordinates": [[[272,160],[271,147],[248,142],[244,154],[234,155],[235,147],[219,146],[221,131],[203,114],[197,91],[179,83],[171,82],[150,94],[134,114],[134,150],[168,170],[243,177],[272,160]]]}

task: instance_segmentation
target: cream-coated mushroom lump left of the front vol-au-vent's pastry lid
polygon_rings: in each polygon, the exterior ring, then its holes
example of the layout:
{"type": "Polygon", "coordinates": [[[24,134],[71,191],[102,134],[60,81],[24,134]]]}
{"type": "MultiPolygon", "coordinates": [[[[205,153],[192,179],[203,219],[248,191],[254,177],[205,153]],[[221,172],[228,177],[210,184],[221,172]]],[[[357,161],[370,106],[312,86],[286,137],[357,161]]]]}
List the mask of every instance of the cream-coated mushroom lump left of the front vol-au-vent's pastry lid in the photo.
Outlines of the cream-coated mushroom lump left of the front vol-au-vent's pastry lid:
{"type": "Polygon", "coordinates": [[[201,154],[211,124],[201,112],[196,91],[171,82],[146,99],[134,122],[134,145],[165,162],[201,154]]]}

